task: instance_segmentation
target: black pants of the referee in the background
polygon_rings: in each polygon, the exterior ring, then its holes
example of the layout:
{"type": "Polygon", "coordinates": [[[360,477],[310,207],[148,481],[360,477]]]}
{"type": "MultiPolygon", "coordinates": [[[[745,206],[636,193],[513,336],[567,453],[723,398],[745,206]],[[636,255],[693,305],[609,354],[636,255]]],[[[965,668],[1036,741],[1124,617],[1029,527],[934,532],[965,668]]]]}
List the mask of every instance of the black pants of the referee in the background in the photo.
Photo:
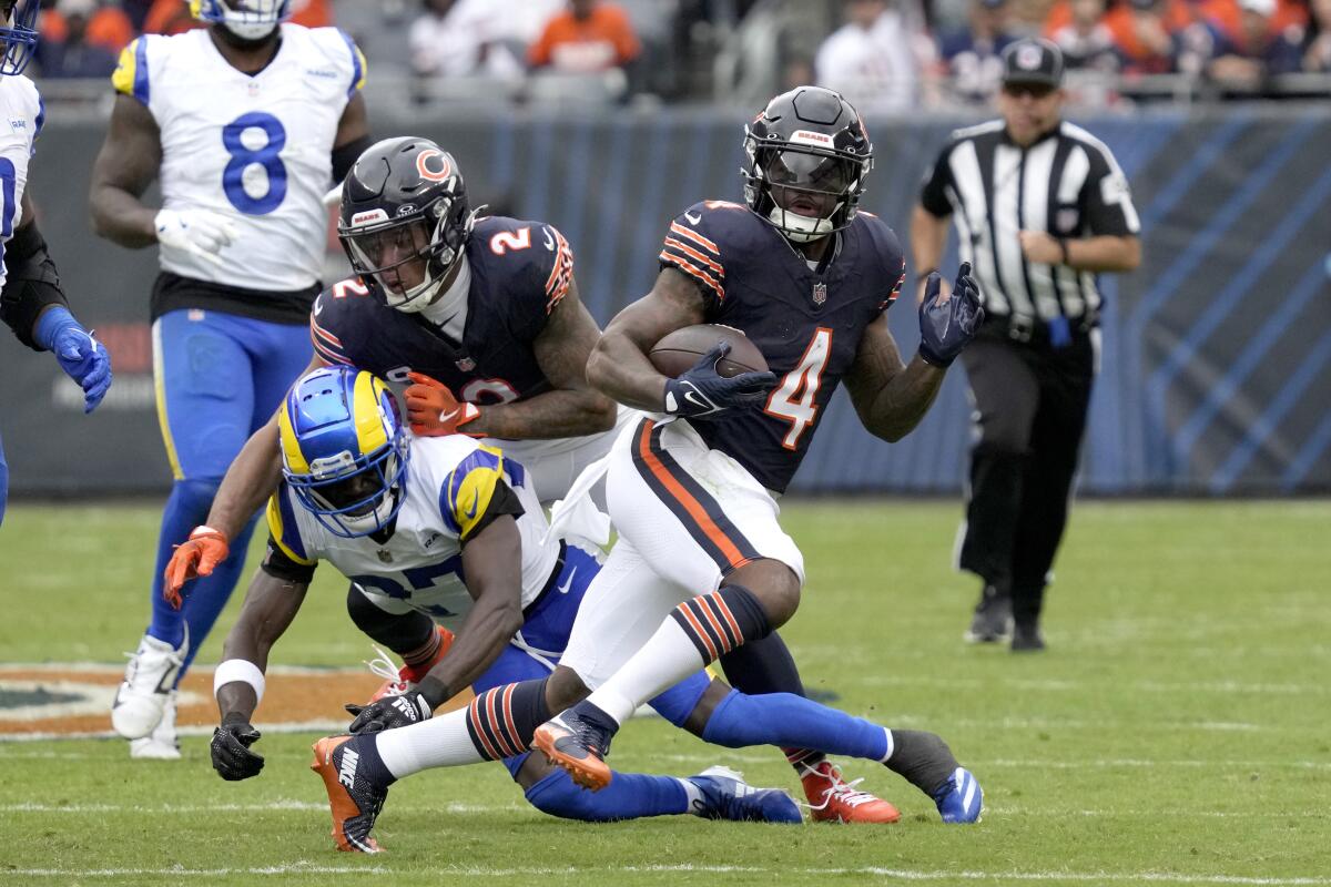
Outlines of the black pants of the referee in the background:
{"type": "MultiPolygon", "coordinates": [[[[1041,331],[1042,332],[1042,331],[1041,331]]],[[[1091,334],[1061,348],[989,324],[961,352],[978,438],[970,455],[961,568],[1012,592],[1013,618],[1040,618],[1067,505],[1091,384],[1091,334]]]]}

